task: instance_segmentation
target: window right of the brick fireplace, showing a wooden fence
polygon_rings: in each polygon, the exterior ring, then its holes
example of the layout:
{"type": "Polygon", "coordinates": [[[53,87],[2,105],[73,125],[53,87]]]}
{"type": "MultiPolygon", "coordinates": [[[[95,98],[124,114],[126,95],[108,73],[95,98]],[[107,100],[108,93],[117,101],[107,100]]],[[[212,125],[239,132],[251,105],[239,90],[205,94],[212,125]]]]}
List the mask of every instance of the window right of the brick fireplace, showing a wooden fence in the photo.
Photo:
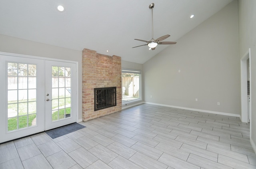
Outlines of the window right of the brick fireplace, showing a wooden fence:
{"type": "Polygon", "coordinates": [[[122,104],[141,100],[141,70],[122,69],[122,104]]]}

